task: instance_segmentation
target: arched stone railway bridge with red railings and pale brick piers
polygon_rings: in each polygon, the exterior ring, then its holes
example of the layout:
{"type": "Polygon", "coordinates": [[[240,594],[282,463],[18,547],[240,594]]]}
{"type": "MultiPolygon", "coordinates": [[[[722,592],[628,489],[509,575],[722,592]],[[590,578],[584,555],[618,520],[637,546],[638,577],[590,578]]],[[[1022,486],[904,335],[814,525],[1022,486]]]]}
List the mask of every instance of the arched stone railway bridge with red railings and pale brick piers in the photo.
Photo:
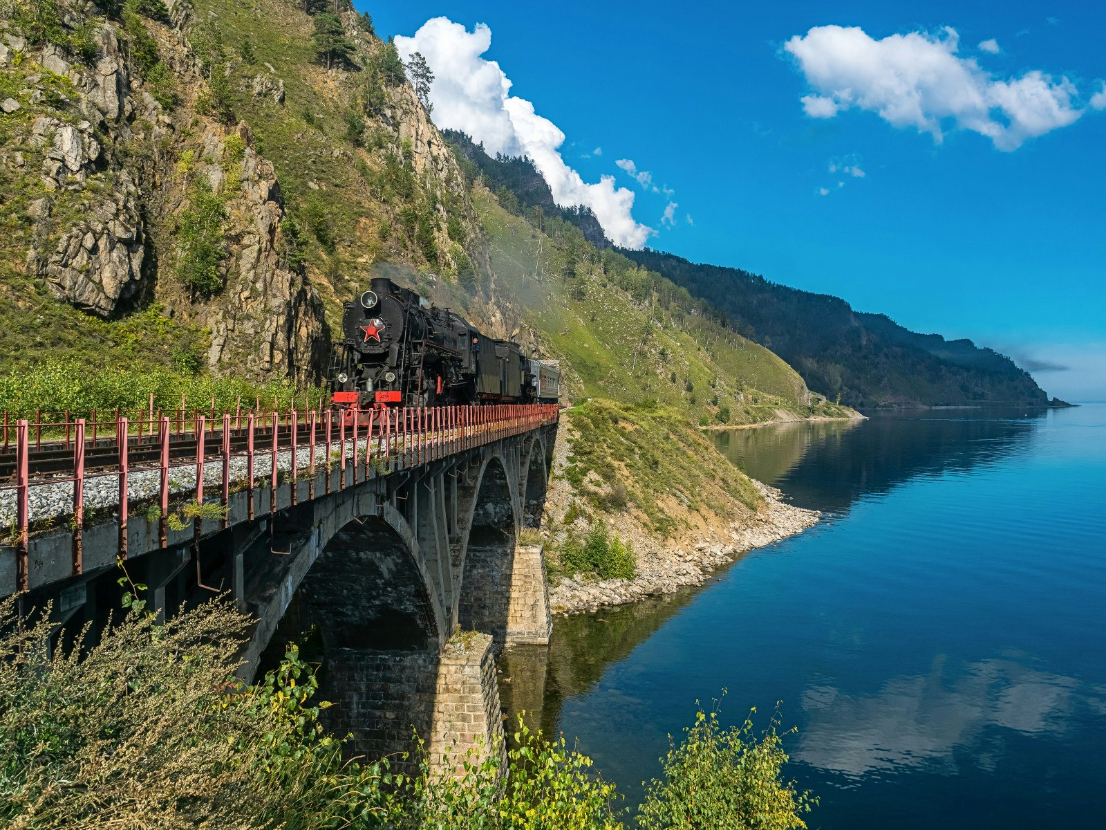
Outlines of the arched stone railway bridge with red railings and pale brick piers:
{"type": "Polygon", "coordinates": [[[354,751],[414,727],[437,764],[502,736],[499,649],[549,642],[543,551],[519,537],[556,427],[555,405],[20,421],[0,598],[52,601],[72,636],[118,613],[119,559],[161,616],[222,593],[253,618],[246,679],[305,642],[354,751]]]}

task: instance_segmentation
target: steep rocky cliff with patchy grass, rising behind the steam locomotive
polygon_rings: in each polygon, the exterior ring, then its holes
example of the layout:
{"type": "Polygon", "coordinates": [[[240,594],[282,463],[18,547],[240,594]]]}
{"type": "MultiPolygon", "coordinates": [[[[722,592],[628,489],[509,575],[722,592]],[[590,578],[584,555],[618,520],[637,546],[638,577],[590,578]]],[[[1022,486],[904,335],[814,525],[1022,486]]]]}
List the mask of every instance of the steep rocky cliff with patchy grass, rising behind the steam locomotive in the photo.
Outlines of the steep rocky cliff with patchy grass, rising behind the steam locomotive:
{"type": "Polygon", "coordinates": [[[156,309],[216,373],[316,382],[379,260],[487,272],[452,154],[348,6],[330,70],[284,0],[0,6],[2,299],[49,332],[6,363],[95,350],[53,298],[108,331],[156,309]]]}

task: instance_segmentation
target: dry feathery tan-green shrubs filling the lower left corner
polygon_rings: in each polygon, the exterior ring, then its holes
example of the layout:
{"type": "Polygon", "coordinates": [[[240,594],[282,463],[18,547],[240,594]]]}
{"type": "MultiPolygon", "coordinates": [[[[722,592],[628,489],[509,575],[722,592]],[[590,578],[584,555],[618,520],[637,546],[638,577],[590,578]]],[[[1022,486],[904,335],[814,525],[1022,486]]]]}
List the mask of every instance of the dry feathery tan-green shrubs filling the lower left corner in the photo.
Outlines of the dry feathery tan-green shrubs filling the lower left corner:
{"type": "Polygon", "coordinates": [[[49,612],[24,625],[15,603],[0,601],[0,823],[328,828],[385,812],[382,767],[343,760],[294,647],[257,685],[234,678],[249,619],[229,603],[157,625],[133,601],[83,654],[48,649],[49,612]]]}

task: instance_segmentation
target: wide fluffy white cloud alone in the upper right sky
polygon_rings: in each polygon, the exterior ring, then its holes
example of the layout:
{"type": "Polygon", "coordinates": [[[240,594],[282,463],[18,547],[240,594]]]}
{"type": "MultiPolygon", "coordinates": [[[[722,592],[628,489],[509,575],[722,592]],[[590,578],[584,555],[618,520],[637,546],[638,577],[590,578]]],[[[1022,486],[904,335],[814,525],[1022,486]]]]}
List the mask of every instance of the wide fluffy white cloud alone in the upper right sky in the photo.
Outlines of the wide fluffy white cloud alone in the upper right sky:
{"type": "Polygon", "coordinates": [[[807,115],[832,118],[858,107],[896,127],[915,127],[940,143],[947,126],[990,138],[1013,151],[1029,138],[1083,115],[1066,77],[1040,70],[997,79],[971,58],[960,58],[959,35],[908,32],[875,40],[863,29],[814,27],[784,44],[813,89],[801,101],[807,115]]]}

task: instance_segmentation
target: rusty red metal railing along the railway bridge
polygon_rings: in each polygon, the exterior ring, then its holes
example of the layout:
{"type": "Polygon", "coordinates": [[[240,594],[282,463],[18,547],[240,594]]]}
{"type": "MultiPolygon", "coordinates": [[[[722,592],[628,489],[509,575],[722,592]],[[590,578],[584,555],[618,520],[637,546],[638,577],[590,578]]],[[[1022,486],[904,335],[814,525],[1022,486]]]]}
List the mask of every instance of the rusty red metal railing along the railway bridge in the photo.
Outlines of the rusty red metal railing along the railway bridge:
{"type": "MultiPolygon", "coordinates": [[[[64,421],[50,422],[40,417],[33,425],[29,419],[20,418],[12,428],[14,464],[9,465],[13,468],[11,481],[0,485],[0,495],[14,491],[14,521],[9,541],[17,549],[19,589],[27,590],[28,587],[27,551],[32,525],[43,519],[69,519],[73,532],[73,571],[82,572],[83,531],[90,510],[85,504],[85,492],[88,483],[97,478],[116,477],[117,502],[93,509],[115,511],[118,521],[118,552],[126,557],[131,502],[149,502],[152,508],[156,507],[160,541],[165,544],[171,497],[202,505],[205,477],[210,463],[216,460],[220,461],[219,504],[223,508],[223,527],[229,522],[226,508],[230,501],[231,485],[236,483],[244,485],[248,515],[252,519],[254,490],[258,486],[254,477],[258,438],[268,438],[269,446],[262,454],[270,456],[269,479],[264,484],[270,489],[272,499],[275,499],[281,477],[281,455],[286,454],[289,459],[289,477],[285,480],[294,481],[301,470],[301,442],[306,444],[309,497],[314,498],[319,449],[324,454],[327,470],[334,460],[338,461],[337,487],[344,489],[378,475],[419,466],[462,449],[555,423],[557,413],[555,404],[403,407],[355,413],[349,421],[352,436],[346,433],[346,418],[337,419],[336,450],[333,446],[335,424],[332,409],[310,409],[302,423],[300,416],[303,413],[294,407],[284,413],[275,409],[248,411],[244,418],[240,407],[233,413],[225,411],[221,416],[212,412],[210,417],[198,409],[187,414],[181,407],[173,413],[160,409],[154,412],[152,408],[140,411],[135,413],[137,418],[132,418],[132,413],[113,412],[111,421],[70,419],[67,413],[64,421]],[[322,440],[317,428],[320,418],[323,421],[322,440]],[[113,439],[104,437],[113,432],[113,439]],[[43,448],[43,435],[59,437],[48,442],[43,448]],[[218,450],[209,454],[209,445],[218,446],[218,450]],[[349,452],[352,465],[347,464],[349,452]],[[244,459],[244,475],[233,475],[231,463],[236,458],[244,459]],[[61,464],[64,470],[52,469],[54,475],[32,483],[32,459],[36,463],[45,460],[54,467],[61,464]],[[175,484],[171,471],[182,471],[189,467],[195,469],[195,486],[175,484]],[[156,497],[133,498],[129,495],[129,488],[137,476],[156,480],[156,497]],[[31,515],[32,489],[39,486],[56,487],[65,483],[72,483],[73,487],[71,512],[62,517],[42,516],[43,511],[39,511],[39,516],[31,515]]],[[[8,429],[9,426],[6,425],[6,436],[8,429]]],[[[325,492],[330,492],[331,488],[331,476],[326,476],[325,492]]],[[[298,488],[293,487],[292,504],[298,499],[296,491],[298,488]]],[[[271,500],[270,504],[274,501],[271,500]]]]}

